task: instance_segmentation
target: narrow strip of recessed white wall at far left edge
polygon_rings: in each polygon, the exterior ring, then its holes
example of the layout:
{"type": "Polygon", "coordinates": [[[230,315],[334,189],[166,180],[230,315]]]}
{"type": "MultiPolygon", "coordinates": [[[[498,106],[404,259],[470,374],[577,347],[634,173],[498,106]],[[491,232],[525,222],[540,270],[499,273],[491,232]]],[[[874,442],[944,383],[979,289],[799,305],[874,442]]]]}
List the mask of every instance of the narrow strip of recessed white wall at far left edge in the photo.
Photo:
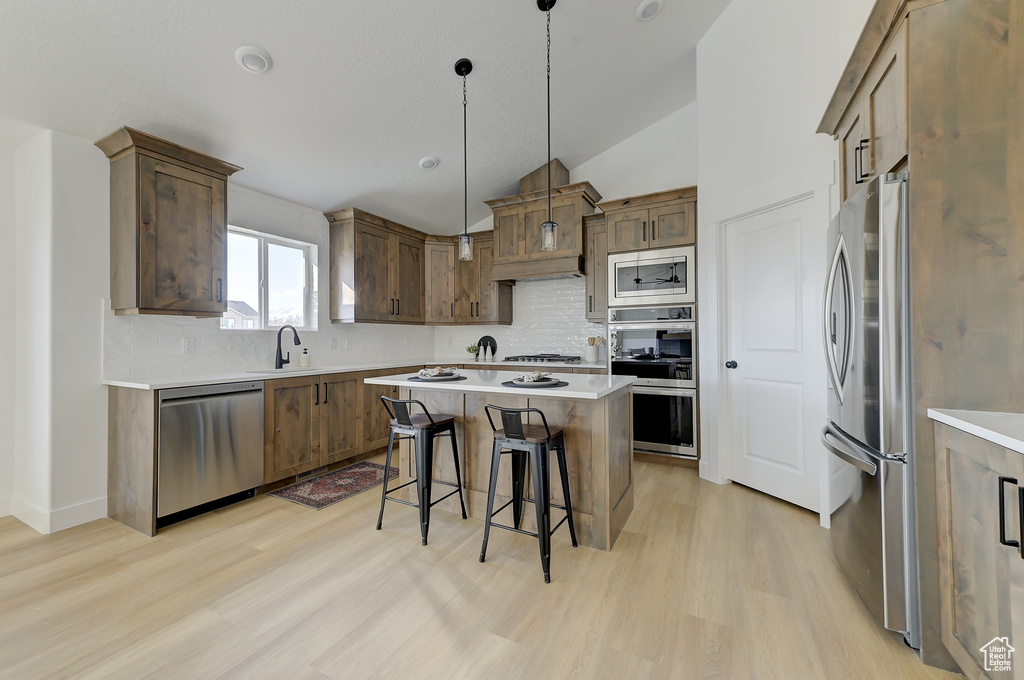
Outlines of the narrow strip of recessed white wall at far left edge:
{"type": "MultiPolygon", "coordinates": [[[[0,146],[0,318],[14,318],[14,152],[0,146]]],[[[8,328],[10,328],[8,326],[8,328]]],[[[14,334],[0,333],[0,517],[14,492],[14,334]]]]}

